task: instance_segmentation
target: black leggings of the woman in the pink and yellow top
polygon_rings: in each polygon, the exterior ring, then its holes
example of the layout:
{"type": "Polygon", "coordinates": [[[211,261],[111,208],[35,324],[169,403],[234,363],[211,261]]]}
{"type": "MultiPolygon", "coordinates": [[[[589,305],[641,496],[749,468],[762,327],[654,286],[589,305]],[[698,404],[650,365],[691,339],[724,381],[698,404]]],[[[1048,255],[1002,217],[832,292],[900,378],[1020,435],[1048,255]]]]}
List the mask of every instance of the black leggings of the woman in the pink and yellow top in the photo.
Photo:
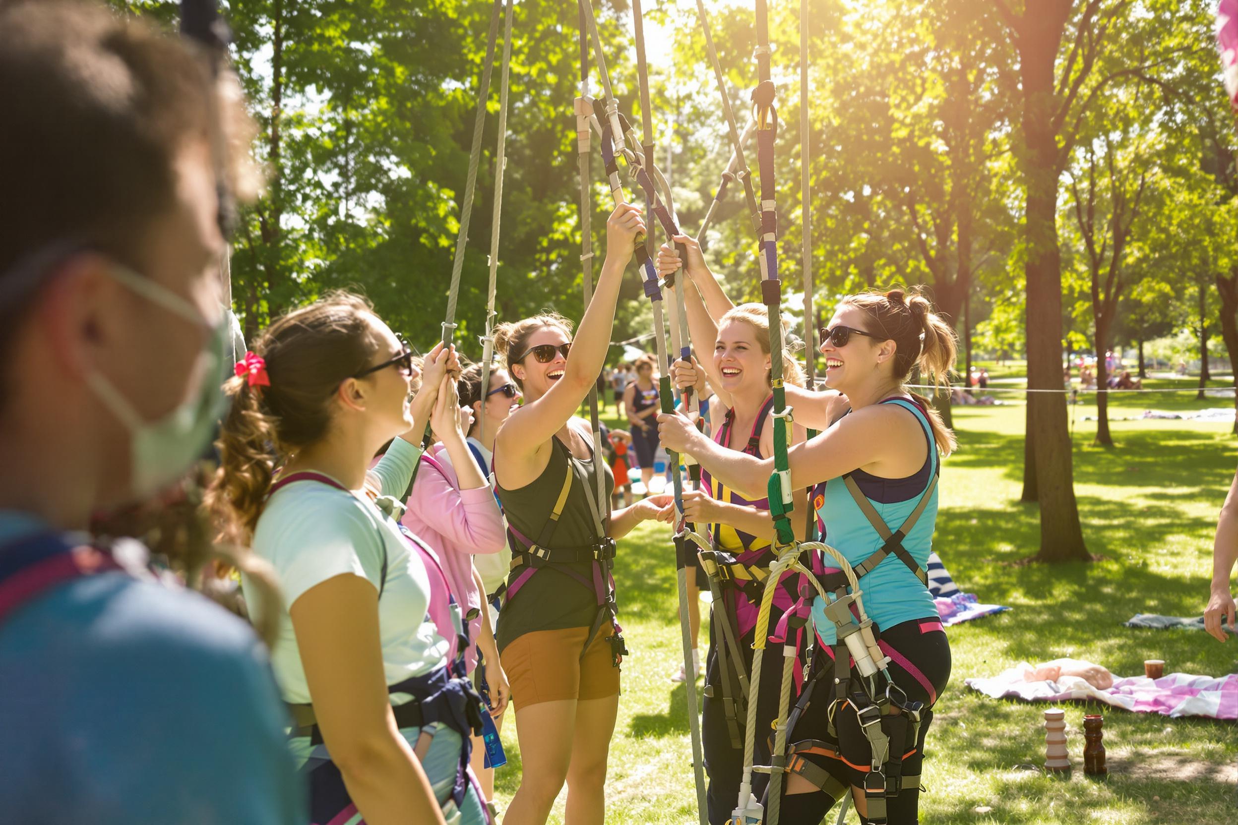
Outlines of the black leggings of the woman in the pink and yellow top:
{"type": "MultiPolygon", "coordinates": [[[[742,596],[739,596],[742,597],[742,596]]],[[[706,797],[709,806],[709,825],[725,825],[735,809],[739,797],[739,783],[744,774],[744,732],[748,714],[738,715],[740,747],[732,747],[730,732],[722,704],[722,675],[718,662],[718,646],[724,644],[717,632],[713,609],[709,610],[709,652],[706,658],[706,684],[713,685],[713,698],[706,696],[701,707],[701,740],[704,748],[704,767],[708,773],[706,797]]],[[[770,625],[773,632],[773,622],[770,625]]],[[[811,633],[811,626],[805,633],[811,633]]],[[[739,652],[744,657],[744,669],[749,674],[753,667],[753,637],[755,628],[738,638],[739,652]]],[[[734,685],[735,667],[729,659],[732,685],[734,685]]],[[[749,677],[750,678],[750,677],[749,677]]],[[[761,657],[760,695],[756,698],[756,747],[753,751],[754,764],[770,763],[769,732],[770,725],[777,717],[779,690],[782,684],[782,646],[768,644],[761,657]]],[[[734,688],[732,688],[734,690],[734,688]]],[[[792,703],[795,693],[792,690],[792,703]]],[[[753,794],[760,799],[769,783],[768,773],[753,773],[753,794]]],[[[795,820],[784,820],[787,823],[795,820]]]]}

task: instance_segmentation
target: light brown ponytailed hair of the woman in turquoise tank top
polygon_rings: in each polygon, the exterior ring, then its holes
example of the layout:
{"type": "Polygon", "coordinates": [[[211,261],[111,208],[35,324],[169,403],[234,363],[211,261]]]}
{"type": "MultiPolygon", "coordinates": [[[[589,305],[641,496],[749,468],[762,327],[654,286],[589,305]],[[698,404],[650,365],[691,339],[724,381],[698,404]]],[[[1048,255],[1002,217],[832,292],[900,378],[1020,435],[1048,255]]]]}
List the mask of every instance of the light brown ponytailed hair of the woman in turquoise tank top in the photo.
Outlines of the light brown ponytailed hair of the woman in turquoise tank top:
{"type": "MultiPolygon", "coordinates": [[[[889,292],[860,292],[843,298],[843,304],[863,309],[877,323],[874,333],[881,333],[895,344],[894,378],[900,383],[907,380],[911,370],[917,367],[920,377],[935,387],[948,385],[950,372],[954,367],[958,351],[954,330],[933,312],[932,302],[914,287],[910,291],[890,289],[889,292]]],[[[904,392],[920,400],[930,425],[933,440],[942,455],[950,455],[958,449],[954,433],[941,419],[941,413],[933,409],[932,402],[924,396],[904,387],[904,392]]]]}

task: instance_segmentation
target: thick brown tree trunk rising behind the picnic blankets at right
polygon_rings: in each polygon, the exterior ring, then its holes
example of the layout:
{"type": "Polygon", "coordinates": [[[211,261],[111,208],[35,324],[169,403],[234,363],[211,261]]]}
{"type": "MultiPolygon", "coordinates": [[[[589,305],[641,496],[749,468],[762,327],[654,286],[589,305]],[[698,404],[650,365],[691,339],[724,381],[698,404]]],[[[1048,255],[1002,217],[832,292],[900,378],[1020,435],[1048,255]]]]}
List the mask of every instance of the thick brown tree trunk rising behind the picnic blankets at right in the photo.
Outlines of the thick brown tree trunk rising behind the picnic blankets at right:
{"type": "MultiPolygon", "coordinates": [[[[1062,270],[1057,246],[1057,190],[1061,150],[1054,127],[1057,96],[1054,68],[1065,19],[1056,14],[1025,12],[1020,73],[1023,75],[1023,132],[1028,151],[1023,158],[1026,187],[1024,233],[1028,281],[1028,387],[1062,388],[1062,270]],[[1056,28],[1056,31],[1055,31],[1056,28]]],[[[1088,560],[1078,503],[1075,500],[1073,456],[1066,393],[1028,393],[1028,449],[1034,453],[1036,475],[1029,485],[1024,468],[1024,495],[1040,501],[1040,552],[1042,562],[1088,560]],[[1035,444],[1035,450],[1031,450],[1035,444]]]]}

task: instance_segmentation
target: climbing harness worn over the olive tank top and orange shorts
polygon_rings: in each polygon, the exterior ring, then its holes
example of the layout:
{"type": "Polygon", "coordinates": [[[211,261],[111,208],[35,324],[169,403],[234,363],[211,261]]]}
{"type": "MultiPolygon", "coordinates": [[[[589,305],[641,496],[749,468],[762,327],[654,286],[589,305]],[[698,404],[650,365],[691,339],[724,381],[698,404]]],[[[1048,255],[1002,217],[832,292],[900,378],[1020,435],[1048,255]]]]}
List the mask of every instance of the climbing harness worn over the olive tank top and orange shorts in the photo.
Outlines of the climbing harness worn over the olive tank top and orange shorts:
{"type": "MultiPolygon", "coordinates": [[[[604,506],[604,502],[594,501],[591,492],[592,485],[589,485],[588,479],[577,479],[576,465],[567,447],[558,438],[552,440],[553,449],[562,450],[563,460],[567,464],[563,486],[546,523],[539,531],[536,541],[516,529],[510,521],[508,522],[508,538],[511,545],[511,571],[504,604],[510,604],[537,570],[551,568],[562,573],[586,590],[589,590],[597,600],[598,611],[584,639],[584,647],[581,649],[581,658],[584,657],[602,623],[609,621],[614,632],[607,641],[610,644],[612,664],[618,668],[623,663],[623,657],[628,656],[628,647],[624,643],[623,628],[619,627],[618,609],[615,606],[615,581],[612,574],[615,558],[615,541],[605,534],[605,523],[599,508],[599,505],[604,506]],[[567,500],[571,496],[574,484],[581,484],[584,487],[584,500],[588,502],[589,512],[593,517],[594,538],[589,544],[582,547],[548,547],[555,539],[558,519],[563,515],[563,508],[567,506],[567,500]],[[581,575],[568,566],[581,563],[589,564],[589,578],[581,575]]],[[[593,454],[593,468],[594,472],[603,474],[600,454],[598,453],[593,454]]]]}

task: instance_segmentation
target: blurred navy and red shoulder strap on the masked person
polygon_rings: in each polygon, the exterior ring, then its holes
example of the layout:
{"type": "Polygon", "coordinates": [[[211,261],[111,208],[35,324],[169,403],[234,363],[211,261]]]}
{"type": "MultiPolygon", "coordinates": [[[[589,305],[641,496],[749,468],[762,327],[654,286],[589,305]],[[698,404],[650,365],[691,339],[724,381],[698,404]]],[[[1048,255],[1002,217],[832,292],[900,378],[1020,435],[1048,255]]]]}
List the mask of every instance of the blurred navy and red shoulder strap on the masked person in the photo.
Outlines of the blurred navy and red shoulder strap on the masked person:
{"type": "Polygon", "coordinates": [[[17,609],[74,579],[121,570],[111,555],[38,533],[0,549],[0,625],[17,609]]]}

